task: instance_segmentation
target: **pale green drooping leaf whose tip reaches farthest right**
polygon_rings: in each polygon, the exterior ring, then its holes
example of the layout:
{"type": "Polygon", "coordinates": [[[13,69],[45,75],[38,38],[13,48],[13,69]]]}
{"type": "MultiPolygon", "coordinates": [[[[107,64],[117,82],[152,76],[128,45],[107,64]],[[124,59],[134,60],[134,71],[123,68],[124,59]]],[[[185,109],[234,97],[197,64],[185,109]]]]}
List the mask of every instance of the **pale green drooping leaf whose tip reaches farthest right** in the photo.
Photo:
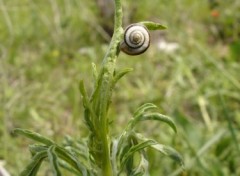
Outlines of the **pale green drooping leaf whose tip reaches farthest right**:
{"type": "Polygon", "coordinates": [[[144,136],[142,136],[139,133],[136,134],[136,137],[141,141],[149,141],[149,140],[154,141],[155,143],[151,145],[151,147],[153,149],[161,152],[162,154],[164,154],[166,156],[169,156],[174,161],[178,162],[180,165],[183,165],[182,156],[174,148],[166,146],[166,145],[159,144],[157,141],[145,138],[144,136]]]}

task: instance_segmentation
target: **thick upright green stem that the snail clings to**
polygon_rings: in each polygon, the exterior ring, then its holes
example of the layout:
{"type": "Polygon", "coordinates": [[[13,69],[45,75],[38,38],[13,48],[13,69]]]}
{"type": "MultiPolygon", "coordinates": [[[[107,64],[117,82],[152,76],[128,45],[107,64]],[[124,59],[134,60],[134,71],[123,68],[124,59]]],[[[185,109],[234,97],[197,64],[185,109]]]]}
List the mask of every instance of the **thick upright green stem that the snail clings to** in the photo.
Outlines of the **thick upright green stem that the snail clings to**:
{"type": "MultiPolygon", "coordinates": [[[[119,54],[119,44],[122,40],[122,5],[120,0],[115,0],[115,16],[114,16],[114,33],[108,49],[104,57],[100,74],[98,75],[97,86],[91,97],[92,107],[97,115],[94,119],[94,126],[97,127],[99,134],[97,135],[101,141],[101,170],[102,175],[112,176],[112,167],[110,160],[110,142],[108,136],[108,118],[107,111],[112,97],[113,78],[115,72],[115,64],[119,54]]],[[[97,137],[97,138],[98,138],[97,137]]],[[[93,140],[96,140],[93,139],[93,140]]],[[[98,158],[99,159],[99,158],[98,158]]]]}

